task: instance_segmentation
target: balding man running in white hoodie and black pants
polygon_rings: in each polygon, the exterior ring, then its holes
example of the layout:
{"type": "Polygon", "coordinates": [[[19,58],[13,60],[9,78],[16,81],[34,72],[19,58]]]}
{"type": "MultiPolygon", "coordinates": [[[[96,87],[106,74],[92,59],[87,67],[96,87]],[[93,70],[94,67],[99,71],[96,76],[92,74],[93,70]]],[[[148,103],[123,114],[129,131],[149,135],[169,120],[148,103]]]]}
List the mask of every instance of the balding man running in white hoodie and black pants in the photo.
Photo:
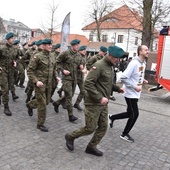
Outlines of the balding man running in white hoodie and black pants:
{"type": "Polygon", "coordinates": [[[141,45],[137,49],[138,57],[135,57],[122,73],[121,81],[124,83],[124,97],[127,103],[127,111],[116,115],[109,115],[110,127],[113,127],[113,122],[117,119],[128,118],[124,131],[120,135],[121,139],[128,142],[134,142],[129,135],[130,130],[134,126],[138,115],[138,100],[141,95],[142,85],[148,83],[144,79],[146,59],[148,58],[149,50],[146,45],[141,45]]]}

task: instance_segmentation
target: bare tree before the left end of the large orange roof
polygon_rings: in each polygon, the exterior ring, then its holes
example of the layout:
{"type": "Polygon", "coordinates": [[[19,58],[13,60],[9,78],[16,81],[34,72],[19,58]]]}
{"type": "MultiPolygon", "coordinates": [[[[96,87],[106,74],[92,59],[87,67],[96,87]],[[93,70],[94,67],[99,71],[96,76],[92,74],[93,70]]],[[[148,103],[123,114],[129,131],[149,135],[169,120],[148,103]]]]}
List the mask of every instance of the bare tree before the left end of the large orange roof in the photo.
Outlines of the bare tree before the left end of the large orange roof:
{"type": "Polygon", "coordinates": [[[113,4],[107,0],[91,0],[87,10],[87,18],[95,23],[98,41],[101,42],[101,24],[107,20],[106,16],[113,10],[113,4]]]}

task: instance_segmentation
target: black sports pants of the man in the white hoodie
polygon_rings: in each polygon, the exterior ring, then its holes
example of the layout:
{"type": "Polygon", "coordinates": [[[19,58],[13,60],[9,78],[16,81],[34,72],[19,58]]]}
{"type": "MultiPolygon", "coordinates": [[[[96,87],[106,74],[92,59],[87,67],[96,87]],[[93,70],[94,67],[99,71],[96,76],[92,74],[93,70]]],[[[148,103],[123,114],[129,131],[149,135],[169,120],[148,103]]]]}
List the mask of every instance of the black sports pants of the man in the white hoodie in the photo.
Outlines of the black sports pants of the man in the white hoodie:
{"type": "Polygon", "coordinates": [[[113,120],[128,118],[128,121],[123,131],[123,135],[128,134],[130,132],[139,116],[138,99],[131,99],[125,97],[125,100],[127,103],[127,111],[112,115],[113,120]]]}

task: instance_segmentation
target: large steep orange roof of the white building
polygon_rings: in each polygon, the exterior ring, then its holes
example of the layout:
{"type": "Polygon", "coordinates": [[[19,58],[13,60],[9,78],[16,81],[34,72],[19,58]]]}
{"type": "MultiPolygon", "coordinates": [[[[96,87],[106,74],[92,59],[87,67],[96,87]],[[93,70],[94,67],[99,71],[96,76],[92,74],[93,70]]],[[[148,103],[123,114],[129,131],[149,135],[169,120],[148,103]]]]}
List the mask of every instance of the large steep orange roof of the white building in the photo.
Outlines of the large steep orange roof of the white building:
{"type": "MultiPolygon", "coordinates": [[[[100,29],[135,29],[142,30],[142,17],[137,11],[131,10],[127,5],[114,10],[101,18],[100,29]]],[[[93,22],[82,30],[95,30],[96,23],[93,22]]]]}

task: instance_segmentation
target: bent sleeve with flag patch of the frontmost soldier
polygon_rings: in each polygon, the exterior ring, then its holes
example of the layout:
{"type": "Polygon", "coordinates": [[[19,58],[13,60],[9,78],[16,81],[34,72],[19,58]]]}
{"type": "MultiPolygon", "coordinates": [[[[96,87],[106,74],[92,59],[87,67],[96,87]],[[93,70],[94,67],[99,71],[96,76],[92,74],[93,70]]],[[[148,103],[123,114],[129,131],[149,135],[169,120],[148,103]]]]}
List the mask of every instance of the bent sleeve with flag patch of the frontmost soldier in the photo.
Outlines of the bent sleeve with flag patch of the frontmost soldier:
{"type": "Polygon", "coordinates": [[[100,77],[100,74],[101,68],[93,66],[84,83],[84,89],[87,91],[90,97],[97,102],[100,102],[103,98],[103,95],[96,88],[96,83],[100,77]]]}

